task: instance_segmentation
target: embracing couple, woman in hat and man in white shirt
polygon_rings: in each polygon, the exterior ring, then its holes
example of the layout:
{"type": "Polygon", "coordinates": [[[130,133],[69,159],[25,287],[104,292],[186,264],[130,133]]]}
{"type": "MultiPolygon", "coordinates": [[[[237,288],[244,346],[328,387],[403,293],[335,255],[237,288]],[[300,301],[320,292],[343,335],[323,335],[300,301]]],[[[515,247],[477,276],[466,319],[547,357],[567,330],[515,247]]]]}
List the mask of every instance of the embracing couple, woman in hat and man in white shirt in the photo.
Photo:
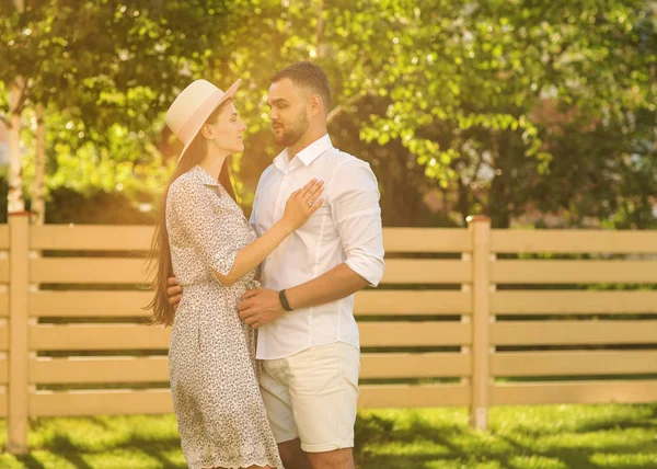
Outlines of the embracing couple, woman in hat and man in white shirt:
{"type": "Polygon", "coordinates": [[[269,117],[286,148],[261,176],[249,222],[228,163],[244,148],[239,83],[195,81],[166,113],[185,147],[153,237],[151,307],[173,324],[183,453],[192,469],[353,469],[353,294],[384,271],[377,180],[326,134],[322,69],[293,64],[272,78],[269,117]]]}

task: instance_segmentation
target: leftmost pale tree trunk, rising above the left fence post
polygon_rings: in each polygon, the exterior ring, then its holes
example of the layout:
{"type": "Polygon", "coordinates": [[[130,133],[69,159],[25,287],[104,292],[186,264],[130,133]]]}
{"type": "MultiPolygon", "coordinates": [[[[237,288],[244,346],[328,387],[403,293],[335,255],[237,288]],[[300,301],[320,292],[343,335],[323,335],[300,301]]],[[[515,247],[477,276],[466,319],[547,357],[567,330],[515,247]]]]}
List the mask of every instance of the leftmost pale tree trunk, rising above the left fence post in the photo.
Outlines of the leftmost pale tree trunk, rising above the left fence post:
{"type": "Polygon", "coordinates": [[[23,179],[21,176],[21,110],[25,80],[16,77],[9,91],[9,192],[7,211],[12,214],[25,210],[23,179]]]}

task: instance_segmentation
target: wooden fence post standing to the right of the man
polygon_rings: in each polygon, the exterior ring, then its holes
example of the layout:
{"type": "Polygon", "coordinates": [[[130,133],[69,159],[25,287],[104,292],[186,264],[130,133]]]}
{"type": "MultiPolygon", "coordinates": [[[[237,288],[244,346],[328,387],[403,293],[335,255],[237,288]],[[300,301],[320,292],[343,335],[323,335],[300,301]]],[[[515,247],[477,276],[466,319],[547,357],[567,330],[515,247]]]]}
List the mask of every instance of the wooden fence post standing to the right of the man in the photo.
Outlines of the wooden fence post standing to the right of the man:
{"type": "Polygon", "coordinates": [[[472,233],[472,396],[470,425],[486,430],[488,417],[488,386],[491,379],[491,219],[468,217],[472,233]]]}

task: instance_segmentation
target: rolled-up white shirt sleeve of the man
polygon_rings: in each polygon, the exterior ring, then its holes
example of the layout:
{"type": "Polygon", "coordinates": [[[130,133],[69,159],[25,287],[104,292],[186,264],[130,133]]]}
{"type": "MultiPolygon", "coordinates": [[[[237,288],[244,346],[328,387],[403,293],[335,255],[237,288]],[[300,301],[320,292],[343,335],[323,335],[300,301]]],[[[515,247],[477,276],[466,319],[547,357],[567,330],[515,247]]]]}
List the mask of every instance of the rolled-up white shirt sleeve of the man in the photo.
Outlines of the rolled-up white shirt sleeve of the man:
{"type": "Polygon", "coordinates": [[[327,186],[327,202],[347,255],[345,263],[376,287],[383,277],[383,234],[377,178],[365,161],[342,163],[327,186]]]}

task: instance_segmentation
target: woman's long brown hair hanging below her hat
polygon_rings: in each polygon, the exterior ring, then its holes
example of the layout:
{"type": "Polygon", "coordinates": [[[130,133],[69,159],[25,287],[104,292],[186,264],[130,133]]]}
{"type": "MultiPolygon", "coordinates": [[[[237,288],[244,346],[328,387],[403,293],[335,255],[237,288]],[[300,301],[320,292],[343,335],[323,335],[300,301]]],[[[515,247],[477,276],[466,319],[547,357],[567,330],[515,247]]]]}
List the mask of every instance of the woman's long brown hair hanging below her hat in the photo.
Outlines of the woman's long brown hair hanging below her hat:
{"type": "MultiPolygon", "coordinates": [[[[217,107],[212,114],[207,118],[206,123],[215,124],[219,118],[219,114],[226,107],[230,100],[224,101],[217,107]]],[[[166,195],[169,194],[169,187],[178,179],[182,174],[189,171],[196,164],[200,163],[208,152],[208,144],[205,137],[199,131],[198,135],[192,141],[192,145],[183,156],[180,163],[176,165],[173,174],[166,182],[162,199],[160,202],[160,211],[158,214],[158,222],[155,225],[155,231],[151,242],[151,250],[149,254],[149,271],[153,271],[153,261],[157,260],[154,268],[154,278],[151,283],[151,288],[154,290],[153,300],[146,307],[146,309],[153,310],[153,324],[172,325],[175,310],[172,305],[169,304],[169,296],[166,295],[166,279],[173,277],[173,265],[171,262],[171,248],[169,245],[169,233],[166,232],[166,195]]],[[[230,169],[228,158],[221,167],[219,173],[219,184],[226,188],[226,192],[234,199],[235,192],[233,190],[230,176],[230,169]]]]}

